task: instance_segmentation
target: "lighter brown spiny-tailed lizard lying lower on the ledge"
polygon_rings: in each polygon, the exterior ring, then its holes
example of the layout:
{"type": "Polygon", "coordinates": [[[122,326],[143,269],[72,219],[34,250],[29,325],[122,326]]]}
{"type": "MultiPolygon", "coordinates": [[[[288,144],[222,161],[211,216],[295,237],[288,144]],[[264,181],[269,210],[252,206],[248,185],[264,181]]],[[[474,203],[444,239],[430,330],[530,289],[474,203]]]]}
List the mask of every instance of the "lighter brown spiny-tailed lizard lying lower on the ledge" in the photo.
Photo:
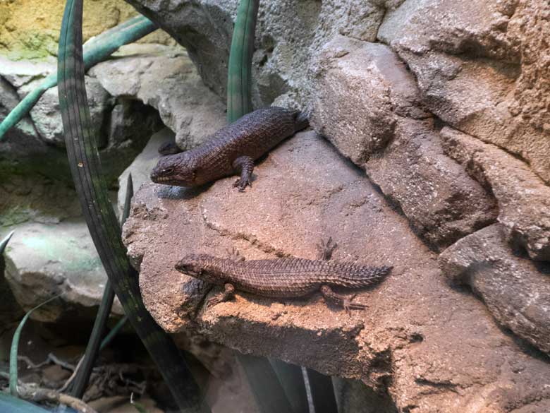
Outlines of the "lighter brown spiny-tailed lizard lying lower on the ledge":
{"type": "MultiPolygon", "coordinates": [[[[335,244],[323,244],[328,258],[335,244]],[[326,252],[326,250],[329,250],[326,252]]],[[[262,297],[305,297],[322,292],[325,299],[347,309],[362,309],[361,304],[350,303],[331,291],[331,286],[358,288],[374,285],[387,275],[391,267],[372,267],[355,263],[338,263],[305,258],[277,258],[273,260],[236,261],[206,254],[185,256],[176,264],[176,270],[214,285],[223,285],[225,292],[209,304],[231,298],[233,291],[250,292],[262,297]]]]}

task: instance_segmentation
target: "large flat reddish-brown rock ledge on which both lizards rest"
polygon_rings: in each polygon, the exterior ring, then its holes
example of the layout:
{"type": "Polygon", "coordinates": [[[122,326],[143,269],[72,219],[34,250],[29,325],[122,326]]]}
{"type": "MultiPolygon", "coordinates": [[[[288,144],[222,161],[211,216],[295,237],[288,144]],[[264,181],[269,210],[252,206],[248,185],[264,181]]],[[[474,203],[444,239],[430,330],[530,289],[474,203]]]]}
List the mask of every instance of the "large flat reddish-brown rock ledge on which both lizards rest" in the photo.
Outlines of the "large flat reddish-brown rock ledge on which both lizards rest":
{"type": "Polygon", "coordinates": [[[475,297],[449,287],[404,217],[324,140],[298,133],[255,175],[245,193],[230,177],[196,189],[146,184],[136,194],[125,243],[140,265],[145,305],[165,330],[196,329],[245,353],[360,379],[390,412],[543,413],[550,406],[547,361],[503,333],[475,297]],[[186,253],[224,256],[233,246],[249,259],[312,258],[329,235],[338,261],[394,266],[355,298],[366,311],[347,316],[319,294],[244,293],[204,309],[204,294],[213,292],[173,269],[186,253]]]}

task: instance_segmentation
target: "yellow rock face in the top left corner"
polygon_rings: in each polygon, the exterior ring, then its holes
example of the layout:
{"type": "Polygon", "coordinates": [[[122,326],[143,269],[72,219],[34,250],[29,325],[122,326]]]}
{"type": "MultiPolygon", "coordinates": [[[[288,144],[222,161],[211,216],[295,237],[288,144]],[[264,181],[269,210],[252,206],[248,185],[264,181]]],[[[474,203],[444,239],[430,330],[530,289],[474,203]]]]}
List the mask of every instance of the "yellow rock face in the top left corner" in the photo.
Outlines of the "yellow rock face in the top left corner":
{"type": "MultiPolygon", "coordinates": [[[[45,59],[57,55],[64,0],[0,1],[0,54],[9,59],[45,59]]],[[[138,14],[123,0],[84,2],[84,41],[138,14]]],[[[168,44],[169,35],[157,30],[145,42],[168,44]]]]}

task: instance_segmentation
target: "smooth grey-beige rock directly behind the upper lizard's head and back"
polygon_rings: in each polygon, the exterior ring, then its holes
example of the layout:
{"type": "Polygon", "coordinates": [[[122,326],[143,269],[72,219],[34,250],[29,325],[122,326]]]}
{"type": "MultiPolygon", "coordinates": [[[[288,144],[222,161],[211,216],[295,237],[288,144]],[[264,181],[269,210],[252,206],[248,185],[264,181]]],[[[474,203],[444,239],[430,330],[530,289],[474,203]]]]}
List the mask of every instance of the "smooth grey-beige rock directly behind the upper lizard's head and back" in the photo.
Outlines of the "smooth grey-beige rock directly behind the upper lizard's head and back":
{"type": "Polygon", "coordinates": [[[181,47],[130,44],[90,73],[111,95],[133,97],[157,109],[183,150],[225,125],[224,104],[204,86],[181,47]]]}

